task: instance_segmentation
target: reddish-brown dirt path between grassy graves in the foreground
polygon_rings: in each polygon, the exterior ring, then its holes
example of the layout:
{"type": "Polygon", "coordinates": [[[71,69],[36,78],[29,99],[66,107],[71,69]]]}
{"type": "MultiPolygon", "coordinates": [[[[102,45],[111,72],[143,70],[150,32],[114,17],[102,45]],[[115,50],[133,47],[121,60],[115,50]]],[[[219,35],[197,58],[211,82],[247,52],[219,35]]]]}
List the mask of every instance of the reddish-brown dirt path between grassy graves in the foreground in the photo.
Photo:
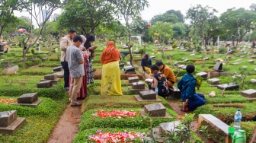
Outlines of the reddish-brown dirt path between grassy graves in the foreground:
{"type": "MultiPolygon", "coordinates": [[[[78,100],[79,103],[83,103],[83,101],[78,100]]],[[[71,143],[74,136],[78,133],[78,124],[81,122],[80,116],[80,106],[73,107],[68,105],[53,129],[48,143],[71,143]]]]}

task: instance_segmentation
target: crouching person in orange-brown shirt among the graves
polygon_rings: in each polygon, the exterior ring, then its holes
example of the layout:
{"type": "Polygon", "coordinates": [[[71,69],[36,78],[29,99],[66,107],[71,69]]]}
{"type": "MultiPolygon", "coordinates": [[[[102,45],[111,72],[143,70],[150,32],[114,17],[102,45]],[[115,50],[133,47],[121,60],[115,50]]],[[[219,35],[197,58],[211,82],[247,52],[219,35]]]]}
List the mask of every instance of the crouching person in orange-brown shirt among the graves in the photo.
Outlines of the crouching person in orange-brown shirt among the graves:
{"type": "Polygon", "coordinates": [[[171,68],[165,65],[162,61],[156,62],[155,65],[158,65],[158,68],[160,69],[160,71],[167,78],[168,87],[173,88],[176,79],[175,79],[174,72],[171,70],[171,68]]]}

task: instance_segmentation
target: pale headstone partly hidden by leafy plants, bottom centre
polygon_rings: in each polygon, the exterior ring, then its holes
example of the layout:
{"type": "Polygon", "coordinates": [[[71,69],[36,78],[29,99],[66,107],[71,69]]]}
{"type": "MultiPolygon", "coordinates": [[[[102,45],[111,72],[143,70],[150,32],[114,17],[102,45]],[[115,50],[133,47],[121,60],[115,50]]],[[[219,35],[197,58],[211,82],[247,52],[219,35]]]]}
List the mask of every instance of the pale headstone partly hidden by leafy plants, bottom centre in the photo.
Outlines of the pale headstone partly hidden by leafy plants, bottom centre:
{"type": "Polygon", "coordinates": [[[159,126],[159,132],[161,134],[168,134],[168,132],[174,131],[175,127],[179,126],[181,124],[181,121],[173,121],[173,122],[164,122],[161,123],[159,126]]]}

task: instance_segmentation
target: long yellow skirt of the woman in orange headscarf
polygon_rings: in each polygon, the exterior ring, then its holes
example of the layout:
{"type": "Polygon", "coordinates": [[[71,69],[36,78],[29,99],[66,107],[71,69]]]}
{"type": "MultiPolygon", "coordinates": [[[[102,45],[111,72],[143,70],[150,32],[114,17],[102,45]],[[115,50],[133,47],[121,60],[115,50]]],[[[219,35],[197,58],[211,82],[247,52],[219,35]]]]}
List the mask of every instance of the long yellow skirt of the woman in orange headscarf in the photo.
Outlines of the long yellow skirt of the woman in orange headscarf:
{"type": "Polygon", "coordinates": [[[101,95],[123,95],[119,62],[109,62],[102,65],[101,95]]]}

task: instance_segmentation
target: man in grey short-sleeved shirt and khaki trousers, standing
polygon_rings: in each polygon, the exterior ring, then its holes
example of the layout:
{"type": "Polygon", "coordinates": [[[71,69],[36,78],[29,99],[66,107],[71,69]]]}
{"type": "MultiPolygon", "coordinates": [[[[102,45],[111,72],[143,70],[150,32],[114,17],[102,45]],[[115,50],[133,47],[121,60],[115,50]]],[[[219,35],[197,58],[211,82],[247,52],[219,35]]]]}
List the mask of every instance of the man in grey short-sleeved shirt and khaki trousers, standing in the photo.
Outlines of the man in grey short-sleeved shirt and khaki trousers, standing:
{"type": "Polygon", "coordinates": [[[71,106],[81,106],[80,103],[76,102],[76,97],[78,96],[78,92],[82,86],[82,79],[85,75],[84,58],[82,57],[82,53],[79,49],[81,44],[82,37],[77,35],[73,38],[72,46],[69,46],[69,48],[66,50],[66,57],[72,79],[70,85],[71,106]]]}

